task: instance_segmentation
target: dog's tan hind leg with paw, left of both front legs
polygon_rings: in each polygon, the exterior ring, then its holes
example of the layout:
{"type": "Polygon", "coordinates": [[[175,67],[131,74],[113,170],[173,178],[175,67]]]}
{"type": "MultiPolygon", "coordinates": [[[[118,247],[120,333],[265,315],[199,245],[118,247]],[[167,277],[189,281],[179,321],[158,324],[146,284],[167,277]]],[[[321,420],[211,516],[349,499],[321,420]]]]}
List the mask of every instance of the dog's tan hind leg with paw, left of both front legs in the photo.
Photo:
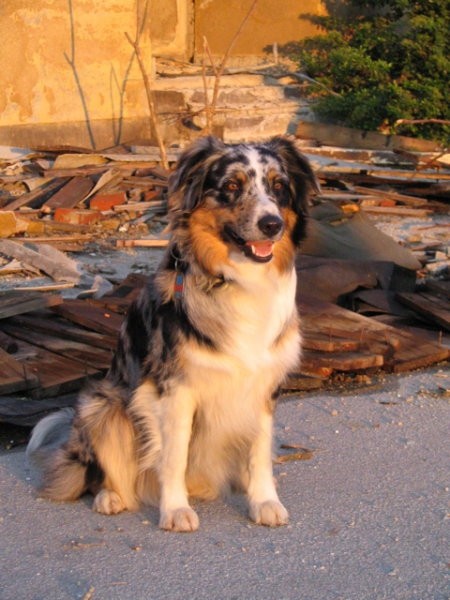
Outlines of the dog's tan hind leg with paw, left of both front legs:
{"type": "Polygon", "coordinates": [[[107,381],[80,399],[80,421],[104,479],[93,509],[103,514],[137,510],[135,433],[120,391],[107,381]]]}

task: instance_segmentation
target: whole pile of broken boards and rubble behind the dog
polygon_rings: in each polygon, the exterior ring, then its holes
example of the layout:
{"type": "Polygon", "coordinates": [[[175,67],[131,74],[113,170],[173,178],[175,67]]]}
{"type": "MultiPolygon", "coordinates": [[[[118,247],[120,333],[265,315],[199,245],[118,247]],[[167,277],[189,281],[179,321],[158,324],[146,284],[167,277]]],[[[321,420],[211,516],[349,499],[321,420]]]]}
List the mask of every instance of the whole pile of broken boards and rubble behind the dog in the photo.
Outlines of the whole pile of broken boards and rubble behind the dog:
{"type": "MultiPolygon", "coordinates": [[[[286,390],[447,360],[448,155],[299,143],[322,190],[297,261],[305,351],[286,390]]],[[[164,247],[167,178],[150,146],[0,152],[0,422],[32,425],[105,372],[147,275],[103,269],[99,285],[83,255],[164,247]]]]}

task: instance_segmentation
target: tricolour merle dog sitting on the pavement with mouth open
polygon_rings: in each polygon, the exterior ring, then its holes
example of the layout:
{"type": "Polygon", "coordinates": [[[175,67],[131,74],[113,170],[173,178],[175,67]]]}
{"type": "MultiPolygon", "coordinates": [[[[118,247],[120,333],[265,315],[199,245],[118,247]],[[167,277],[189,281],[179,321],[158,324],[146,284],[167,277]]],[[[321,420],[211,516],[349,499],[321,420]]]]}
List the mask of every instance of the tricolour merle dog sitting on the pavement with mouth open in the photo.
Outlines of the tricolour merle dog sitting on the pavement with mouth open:
{"type": "Polygon", "coordinates": [[[300,356],[294,258],[315,189],[289,137],[204,137],[181,154],[171,240],[110,369],[33,430],[27,455],[42,496],[92,493],[103,514],[156,504],[162,529],[186,532],[199,526],[190,497],[237,489],[255,523],[287,523],[273,409],[300,356]]]}

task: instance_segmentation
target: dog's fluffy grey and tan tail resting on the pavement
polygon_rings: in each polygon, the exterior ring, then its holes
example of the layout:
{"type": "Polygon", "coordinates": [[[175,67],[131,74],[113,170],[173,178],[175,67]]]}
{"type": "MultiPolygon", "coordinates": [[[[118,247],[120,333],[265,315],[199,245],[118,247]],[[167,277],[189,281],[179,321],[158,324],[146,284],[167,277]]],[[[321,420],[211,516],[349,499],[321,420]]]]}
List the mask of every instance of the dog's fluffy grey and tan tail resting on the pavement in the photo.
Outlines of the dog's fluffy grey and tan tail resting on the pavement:
{"type": "Polygon", "coordinates": [[[33,429],[27,458],[37,474],[41,495],[52,500],[75,500],[86,491],[86,470],[67,452],[74,433],[75,411],[65,408],[48,415],[33,429]]]}

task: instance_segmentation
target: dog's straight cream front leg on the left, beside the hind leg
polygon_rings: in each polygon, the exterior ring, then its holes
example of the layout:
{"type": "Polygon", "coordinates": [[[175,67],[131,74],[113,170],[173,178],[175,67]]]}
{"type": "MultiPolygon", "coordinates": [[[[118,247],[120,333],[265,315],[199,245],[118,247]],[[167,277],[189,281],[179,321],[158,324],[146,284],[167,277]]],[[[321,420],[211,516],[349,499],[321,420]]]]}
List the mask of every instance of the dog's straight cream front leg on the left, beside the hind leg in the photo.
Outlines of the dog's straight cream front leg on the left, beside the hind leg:
{"type": "Polygon", "coordinates": [[[162,450],[160,463],[161,529],[195,531],[199,521],[189,506],[186,489],[186,467],[195,402],[188,390],[161,399],[162,450]]]}

